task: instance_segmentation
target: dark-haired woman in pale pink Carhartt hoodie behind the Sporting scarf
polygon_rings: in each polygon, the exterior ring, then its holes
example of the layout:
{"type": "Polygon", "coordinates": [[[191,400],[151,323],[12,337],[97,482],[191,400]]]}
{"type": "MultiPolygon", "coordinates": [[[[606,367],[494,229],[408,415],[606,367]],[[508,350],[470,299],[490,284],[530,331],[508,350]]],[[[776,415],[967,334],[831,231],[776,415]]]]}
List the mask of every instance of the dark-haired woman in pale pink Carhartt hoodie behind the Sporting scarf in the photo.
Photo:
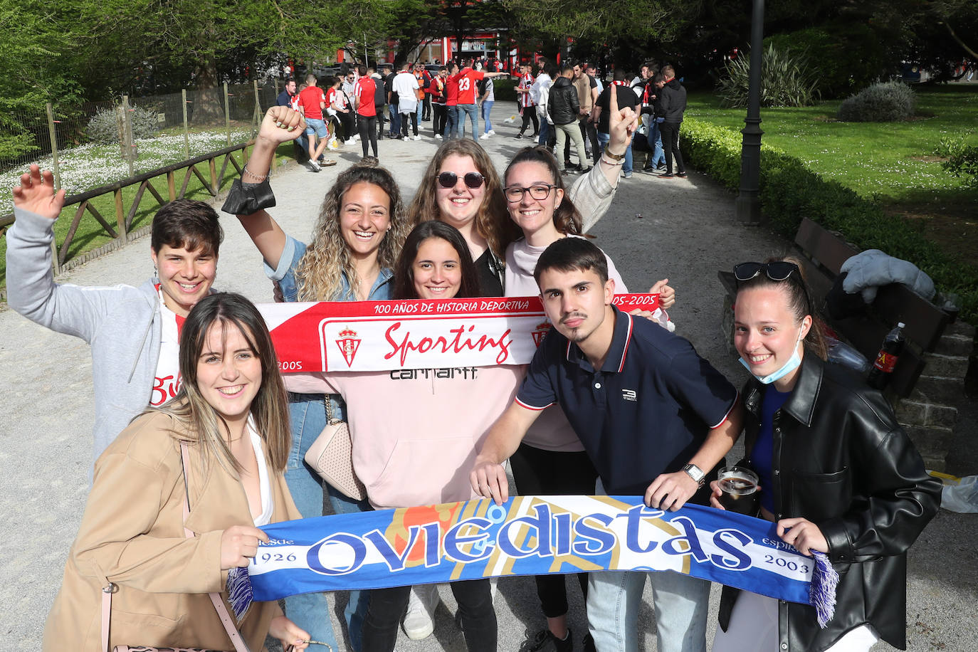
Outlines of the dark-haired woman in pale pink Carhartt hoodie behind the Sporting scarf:
{"type": "MultiPolygon", "coordinates": [[[[394,272],[397,299],[478,296],[466,240],[424,222],[404,242],[394,272]]],[[[489,427],[512,401],[523,367],[398,369],[289,374],[289,391],[339,393],[353,439],[353,468],[375,508],[477,498],[468,483],[489,427]],[[379,409],[382,407],[382,409],[379,409]]],[[[453,582],[467,649],[496,650],[489,580],[453,582]]],[[[364,652],[394,649],[411,587],[371,591],[364,652]]]]}

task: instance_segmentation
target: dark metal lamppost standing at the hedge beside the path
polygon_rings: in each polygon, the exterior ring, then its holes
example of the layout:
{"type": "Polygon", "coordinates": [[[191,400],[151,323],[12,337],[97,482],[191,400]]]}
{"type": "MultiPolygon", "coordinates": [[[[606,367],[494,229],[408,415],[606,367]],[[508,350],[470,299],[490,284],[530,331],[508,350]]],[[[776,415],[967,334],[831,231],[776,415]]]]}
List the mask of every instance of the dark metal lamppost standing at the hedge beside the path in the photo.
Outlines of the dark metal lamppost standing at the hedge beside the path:
{"type": "Polygon", "coordinates": [[[744,224],[761,223],[761,65],[764,55],[764,0],[754,0],[750,24],[750,82],[747,93],[747,123],[740,133],[740,194],[736,216],[744,224]]]}

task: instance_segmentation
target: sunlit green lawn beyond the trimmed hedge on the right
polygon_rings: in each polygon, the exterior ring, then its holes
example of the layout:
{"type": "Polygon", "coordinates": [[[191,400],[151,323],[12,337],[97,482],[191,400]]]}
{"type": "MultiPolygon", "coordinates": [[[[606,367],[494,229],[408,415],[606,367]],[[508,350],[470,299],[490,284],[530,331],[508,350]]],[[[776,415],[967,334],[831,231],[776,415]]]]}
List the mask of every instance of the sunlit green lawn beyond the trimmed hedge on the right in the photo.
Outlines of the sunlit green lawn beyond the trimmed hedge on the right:
{"type": "MultiPolygon", "coordinates": [[[[921,89],[917,100],[919,115],[908,122],[837,122],[839,101],[761,109],[764,142],[801,158],[822,177],[884,202],[960,192],[960,180],[942,169],[933,152],[942,138],[978,146],[978,85],[921,89]]],[[[687,114],[741,129],[745,110],[721,109],[703,93],[690,94],[687,114]]]]}

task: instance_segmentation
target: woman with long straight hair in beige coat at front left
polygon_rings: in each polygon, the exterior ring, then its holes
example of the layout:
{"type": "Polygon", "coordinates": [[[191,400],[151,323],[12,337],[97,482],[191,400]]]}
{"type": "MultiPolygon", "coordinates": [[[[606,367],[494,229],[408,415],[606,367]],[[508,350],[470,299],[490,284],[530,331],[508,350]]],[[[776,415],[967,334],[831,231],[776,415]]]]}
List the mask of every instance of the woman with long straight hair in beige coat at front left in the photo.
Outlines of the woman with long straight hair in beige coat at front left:
{"type": "MultiPolygon", "coordinates": [[[[286,393],[254,306],[230,293],[202,299],[181,332],[180,372],[177,396],[136,417],[96,462],[45,650],[104,650],[104,587],[112,587],[110,650],[234,649],[207,593],[221,593],[227,604],[228,571],[246,566],[259,541],[268,541],[255,526],[299,518],[282,475],[286,393]]],[[[307,645],[308,634],[276,602],[252,604],[238,625],[251,650],[267,633],[286,648],[307,645]]]]}

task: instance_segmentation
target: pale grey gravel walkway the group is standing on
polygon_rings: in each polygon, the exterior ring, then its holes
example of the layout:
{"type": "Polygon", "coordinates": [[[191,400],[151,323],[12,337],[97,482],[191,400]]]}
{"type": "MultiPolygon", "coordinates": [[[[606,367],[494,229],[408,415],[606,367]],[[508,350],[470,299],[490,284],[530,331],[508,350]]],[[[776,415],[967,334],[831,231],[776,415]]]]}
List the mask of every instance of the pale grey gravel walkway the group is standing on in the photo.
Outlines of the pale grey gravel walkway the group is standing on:
{"type": "MultiPolygon", "coordinates": [[[[528,140],[516,141],[517,124],[506,124],[513,109],[498,103],[493,123],[498,135],[481,141],[500,170],[528,140]]],[[[423,166],[439,141],[422,123],[420,142],[379,143],[380,161],[395,175],[407,198],[414,195],[423,166]]],[[[308,239],[319,204],[339,170],[360,159],[360,146],[338,153],[339,164],[315,174],[291,165],[272,182],[278,198],[273,214],[298,239],[308,239]]],[[[5,191],[6,192],[6,191],[5,191]]],[[[226,238],[218,265],[219,289],[244,293],[256,302],[271,301],[271,285],[260,258],[236,219],[223,219],[226,238]]],[[[745,371],[724,345],[720,329],[723,290],[718,269],[786,250],[788,243],[734,219],[733,196],[695,172],[689,180],[659,180],[637,172],[623,180],[608,214],[592,231],[630,289],[641,291],[668,277],[677,288],[671,311],[677,331],[739,384],[745,371]],[[641,217],[640,217],[641,215],[641,217]]],[[[82,285],[139,284],[153,273],[149,240],[142,239],[70,272],[62,282],[82,285]]],[[[58,590],[67,549],[77,531],[92,463],[91,375],[88,346],[0,312],[0,388],[5,415],[0,445],[0,650],[23,650],[40,641],[45,616],[58,590]]],[[[739,455],[734,450],[733,456],[739,455]]],[[[133,478],[133,482],[138,482],[133,478]]],[[[973,650],[978,641],[978,552],[976,516],[942,511],[911,549],[907,627],[909,648],[973,650]],[[970,536],[969,536],[970,535],[970,536]]],[[[451,615],[451,591],[441,587],[443,606],[434,634],[424,641],[401,636],[398,650],[462,650],[465,645],[451,615]]],[[[576,649],[586,630],[579,591],[571,587],[571,628],[576,649]]],[[[714,588],[714,609],[719,591],[714,588]]],[[[343,602],[345,597],[337,595],[343,602]]],[[[654,616],[646,586],[639,649],[656,649],[654,616]]],[[[515,650],[523,631],[537,630],[543,618],[530,579],[499,585],[496,599],[500,649],[515,650]]],[[[341,618],[335,618],[339,622],[341,618]]],[[[714,621],[711,618],[709,638],[714,621]]],[[[66,649],[70,649],[67,642],[66,649]]],[[[315,649],[315,648],[313,648],[315,649]]],[[[892,649],[885,644],[877,650],[892,649]]],[[[317,650],[317,652],[319,652],[317,650]]]]}

